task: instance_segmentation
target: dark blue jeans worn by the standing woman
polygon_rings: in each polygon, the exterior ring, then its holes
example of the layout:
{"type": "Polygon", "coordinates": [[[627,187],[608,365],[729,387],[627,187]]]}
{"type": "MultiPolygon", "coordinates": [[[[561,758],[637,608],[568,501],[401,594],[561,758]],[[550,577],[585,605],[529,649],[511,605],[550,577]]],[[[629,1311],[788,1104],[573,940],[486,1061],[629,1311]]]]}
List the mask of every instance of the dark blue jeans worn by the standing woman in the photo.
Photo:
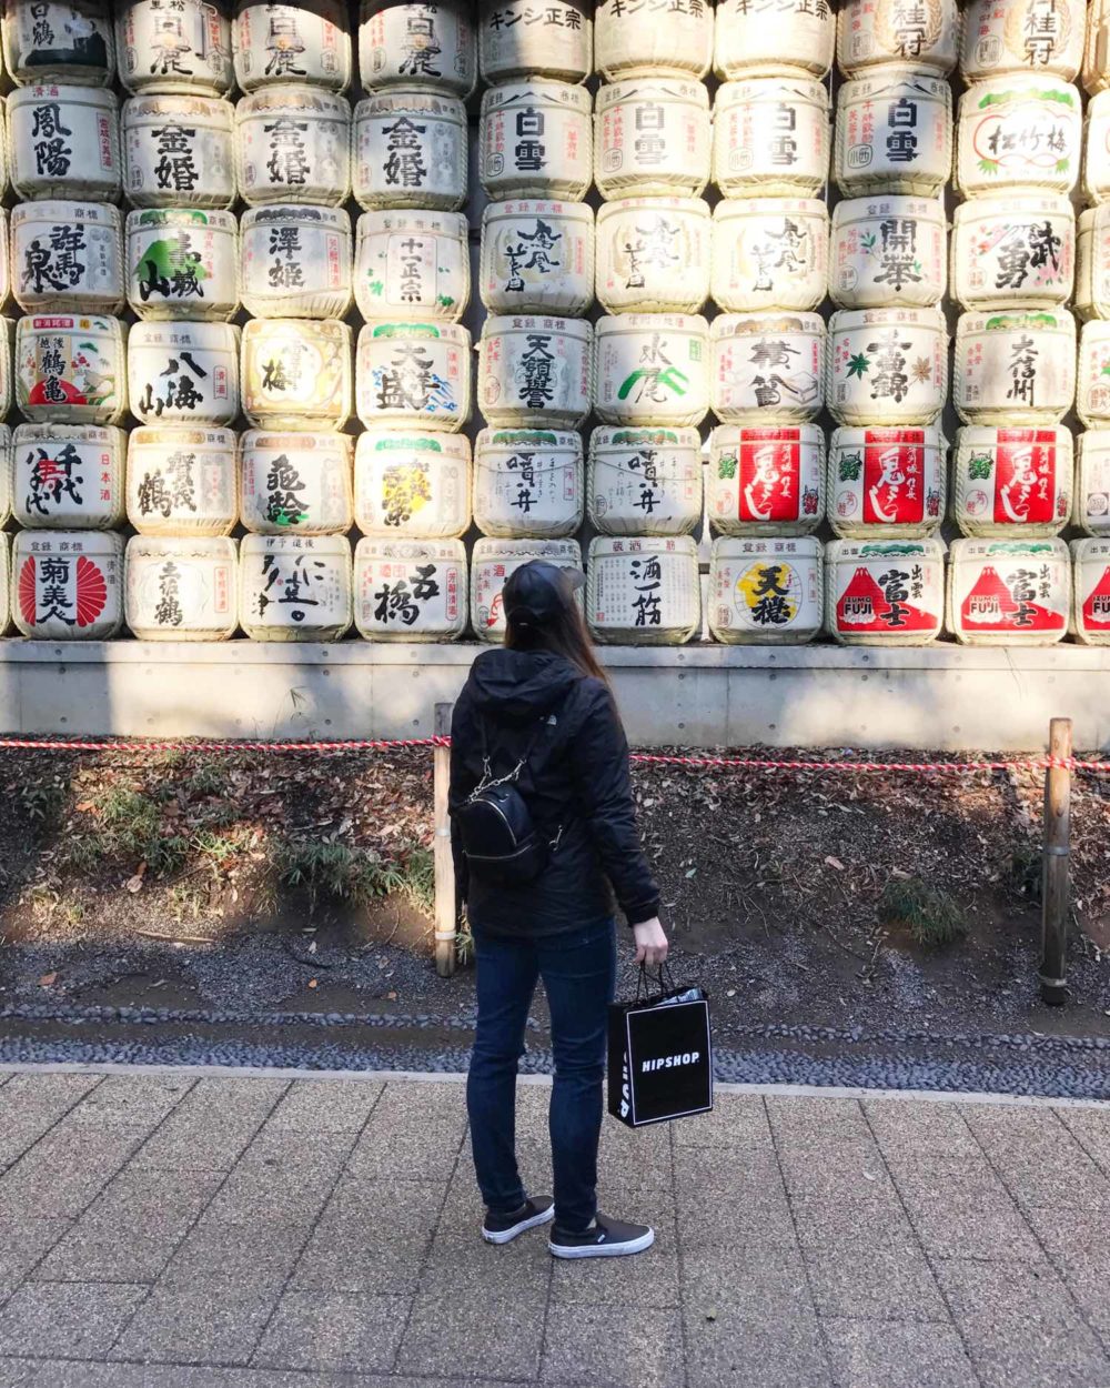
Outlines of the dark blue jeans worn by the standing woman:
{"type": "Polygon", "coordinates": [[[488,936],[475,927],[475,951],[477,1031],[466,1108],[479,1190],[500,1214],[520,1209],[526,1198],[516,1165],[516,1066],[536,983],[543,979],[555,1052],[549,1112],[555,1223],[577,1233],[597,1214],[616,927],[606,920],[548,940],[488,936]]]}

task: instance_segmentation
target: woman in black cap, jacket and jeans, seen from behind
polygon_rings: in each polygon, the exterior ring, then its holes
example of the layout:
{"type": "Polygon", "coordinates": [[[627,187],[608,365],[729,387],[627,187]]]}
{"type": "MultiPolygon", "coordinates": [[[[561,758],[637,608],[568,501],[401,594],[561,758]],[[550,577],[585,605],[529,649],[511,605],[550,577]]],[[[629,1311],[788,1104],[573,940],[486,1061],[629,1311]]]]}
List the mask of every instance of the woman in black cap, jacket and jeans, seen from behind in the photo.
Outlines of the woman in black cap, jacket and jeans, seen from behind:
{"type": "Polygon", "coordinates": [[[451,725],[452,816],[483,783],[509,776],[547,862],[526,883],[473,870],[452,819],[459,895],[477,959],[477,1031],[466,1084],[481,1234],[508,1244],[554,1217],[556,1258],[612,1258],[649,1248],[655,1233],[597,1209],[608,1005],[616,980],[613,897],[635,959],[658,965],[667,938],[659,888],[635,827],[629,744],[594,657],[576,590],[581,575],[534,561],[504,590],[505,647],[480,655],[451,725]],[[530,1198],[516,1165],[516,1072],[538,979],[551,1010],[555,1199],[530,1198]]]}

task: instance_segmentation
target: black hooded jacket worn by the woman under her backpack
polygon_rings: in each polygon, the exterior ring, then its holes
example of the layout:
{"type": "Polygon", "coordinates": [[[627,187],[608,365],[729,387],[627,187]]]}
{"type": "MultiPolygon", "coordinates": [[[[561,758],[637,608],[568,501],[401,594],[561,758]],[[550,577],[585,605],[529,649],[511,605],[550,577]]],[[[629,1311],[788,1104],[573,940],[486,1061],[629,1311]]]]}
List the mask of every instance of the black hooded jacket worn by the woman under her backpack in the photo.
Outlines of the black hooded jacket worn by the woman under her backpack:
{"type": "Polygon", "coordinates": [[[452,811],[481,779],[479,719],[494,776],[513,769],[543,725],[518,788],[537,829],[552,840],[562,834],[534,881],[504,887],[469,877],[452,822],[455,879],[470,922],[491,934],[554,936],[610,916],[613,895],[630,926],[656,916],[659,888],[635,827],[629,744],[606,686],[547,651],[479,655],[451,720],[452,811]]]}

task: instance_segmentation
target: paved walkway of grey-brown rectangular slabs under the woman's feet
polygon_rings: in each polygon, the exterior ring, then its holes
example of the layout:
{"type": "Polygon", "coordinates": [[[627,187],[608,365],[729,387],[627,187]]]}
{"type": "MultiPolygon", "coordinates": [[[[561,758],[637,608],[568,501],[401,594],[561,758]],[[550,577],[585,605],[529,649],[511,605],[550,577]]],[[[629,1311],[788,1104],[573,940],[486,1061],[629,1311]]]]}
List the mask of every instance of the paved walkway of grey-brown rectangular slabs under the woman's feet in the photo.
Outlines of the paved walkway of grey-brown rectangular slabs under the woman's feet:
{"type": "Polygon", "coordinates": [[[456,1083],[0,1074],[0,1388],[1110,1385],[1110,1105],[727,1095],[602,1155],[659,1242],[554,1264],[477,1239],[456,1083]]]}

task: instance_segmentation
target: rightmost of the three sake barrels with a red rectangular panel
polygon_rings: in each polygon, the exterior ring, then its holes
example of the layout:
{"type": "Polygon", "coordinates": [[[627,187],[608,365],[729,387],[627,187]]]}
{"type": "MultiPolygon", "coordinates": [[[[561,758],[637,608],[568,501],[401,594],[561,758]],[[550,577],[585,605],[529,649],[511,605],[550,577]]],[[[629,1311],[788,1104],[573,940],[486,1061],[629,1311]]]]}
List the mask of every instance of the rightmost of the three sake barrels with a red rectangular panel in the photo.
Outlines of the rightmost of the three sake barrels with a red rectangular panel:
{"type": "Polygon", "coordinates": [[[1071,514],[1071,430],[1063,425],[960,429],[952,515],[963,534],[1059,534],[1071,514]]]}

